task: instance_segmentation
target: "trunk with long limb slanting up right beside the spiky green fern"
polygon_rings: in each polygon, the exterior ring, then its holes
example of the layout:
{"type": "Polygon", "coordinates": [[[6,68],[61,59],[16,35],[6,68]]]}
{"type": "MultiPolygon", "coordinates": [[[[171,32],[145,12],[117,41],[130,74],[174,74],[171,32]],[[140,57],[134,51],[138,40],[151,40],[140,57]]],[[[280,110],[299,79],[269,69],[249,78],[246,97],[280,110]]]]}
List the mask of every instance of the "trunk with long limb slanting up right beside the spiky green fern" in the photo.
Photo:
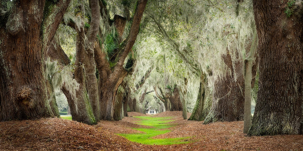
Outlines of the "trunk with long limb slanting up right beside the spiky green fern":
{"type": "MultiPolygon", "coordinates": [[[[103,66],[101,67],[101,63],[99,63],[98,70],[102,72],[102,76],[100,80],[102,80],[102,83],[99,87],[101,89],[99,92],[101,92],[101,119],[104,120],[113,120],[113,105],[115,101],[115,95],[118,89],[118,86],[123,81],[124,77],[127,75],[127,71],[123,67],[125,58],[127,57],[128,53],[131,51],[135,40],[137,38],[137,35],[139,33],[139,25],[142,19],[142,15],[146,6],[147,0],[140,0],[138,1],[136,11],[134,14],[132,26],[130,33],[128,37],[125,40],[125,45],[123,47],[122,53],[118,55],[118,61],[113,69],[111,71],[109,66],[103,66]],[[103,72],[106,72],[104,75],[103,72]]],[[[102,52],[101,52],[102,53],[102,52]]],[[[100,58],[104,60],[105,58],[100,58]]]]}

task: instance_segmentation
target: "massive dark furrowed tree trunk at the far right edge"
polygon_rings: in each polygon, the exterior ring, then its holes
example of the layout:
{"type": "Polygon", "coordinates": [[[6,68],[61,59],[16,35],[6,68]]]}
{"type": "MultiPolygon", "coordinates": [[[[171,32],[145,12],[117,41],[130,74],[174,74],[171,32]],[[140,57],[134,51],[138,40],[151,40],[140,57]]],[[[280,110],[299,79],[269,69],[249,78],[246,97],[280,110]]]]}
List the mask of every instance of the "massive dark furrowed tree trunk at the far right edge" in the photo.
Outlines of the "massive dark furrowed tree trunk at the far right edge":
{"type": "Polygon", "coordinates": [[[287,3],[254,1],[260,74],[249,136],[303,133],[303,8],[287,3]]]}

